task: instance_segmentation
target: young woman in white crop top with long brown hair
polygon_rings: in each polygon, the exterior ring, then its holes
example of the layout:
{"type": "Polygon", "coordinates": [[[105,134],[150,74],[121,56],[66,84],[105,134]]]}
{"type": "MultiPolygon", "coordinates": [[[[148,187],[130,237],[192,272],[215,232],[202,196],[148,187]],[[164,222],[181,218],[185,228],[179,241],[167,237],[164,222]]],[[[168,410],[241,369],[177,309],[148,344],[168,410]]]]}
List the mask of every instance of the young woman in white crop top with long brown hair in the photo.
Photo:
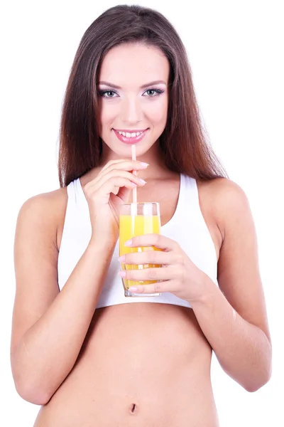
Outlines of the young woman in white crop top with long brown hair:
{"type": "Polygon", "coordinates": [[[158,12],[116,6],[84,33],[59,177],[60,189],[23,204],[15,236],[11,366],[18,394],[42,406],[35,426],[217,427],[212,350],[247,391],[271,376],[256,231],[205,142],[185,48],[158,12]],[[161,251],[119,260],[119,206],[135,186],[138,201],[160,203],[162,233],[131,246],[161,251]],[[126,278],[161,281],[125,297],[119,262],[160,264],[126,278]]]}

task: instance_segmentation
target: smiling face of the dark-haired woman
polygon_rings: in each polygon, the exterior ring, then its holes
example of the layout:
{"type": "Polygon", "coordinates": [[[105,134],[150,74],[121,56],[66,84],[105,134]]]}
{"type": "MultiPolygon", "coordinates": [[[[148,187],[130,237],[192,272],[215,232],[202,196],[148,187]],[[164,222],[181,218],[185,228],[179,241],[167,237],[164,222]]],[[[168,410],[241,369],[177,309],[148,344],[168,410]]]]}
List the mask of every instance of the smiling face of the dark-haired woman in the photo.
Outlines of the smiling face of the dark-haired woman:
{"type": "Polygon", "coordinates": [[[112,158],[131,157],[132,144],[141,156],[160,137],[167,121],[169,73],[168,59],[158,48],[124,44],[107,53],[97,90],[100,137],[112,158]]]}

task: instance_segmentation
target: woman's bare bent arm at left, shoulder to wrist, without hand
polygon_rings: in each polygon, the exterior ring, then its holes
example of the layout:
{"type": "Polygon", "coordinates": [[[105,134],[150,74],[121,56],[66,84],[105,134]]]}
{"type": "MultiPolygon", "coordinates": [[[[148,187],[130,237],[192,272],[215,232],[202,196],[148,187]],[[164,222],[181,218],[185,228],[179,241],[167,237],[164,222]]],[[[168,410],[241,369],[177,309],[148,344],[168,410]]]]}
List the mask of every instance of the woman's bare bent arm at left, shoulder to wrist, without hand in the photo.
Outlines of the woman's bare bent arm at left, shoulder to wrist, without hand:
{"type": "Polygon", "coordinates": [[[39,405],[48,402],[75,364],[115,246],[91,239],[59,292],[59,194],[41,194],[23,204],[14,245],[11,367],[18,394],[39,405]]]}

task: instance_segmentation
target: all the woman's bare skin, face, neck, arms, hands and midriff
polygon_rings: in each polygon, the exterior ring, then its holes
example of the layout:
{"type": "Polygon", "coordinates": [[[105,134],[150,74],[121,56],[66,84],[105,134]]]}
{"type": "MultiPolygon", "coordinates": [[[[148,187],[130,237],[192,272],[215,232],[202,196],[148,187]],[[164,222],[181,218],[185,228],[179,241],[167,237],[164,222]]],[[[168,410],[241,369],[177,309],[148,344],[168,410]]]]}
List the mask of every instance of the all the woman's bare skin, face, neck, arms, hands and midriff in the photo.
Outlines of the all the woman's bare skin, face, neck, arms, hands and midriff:
{"type": "MultiPolygon", "coordinates": [[[[61,292],[57,263],[66,189],[35,196],[18,216],[11,363],[19,394],[44,405],[37,427],[92,426],[94,420],[102,427],[129,425],[126,408],[133,402],[139,427],[185,427],[188,420],[192,426],[217,427],[208,373],[212,349],[224,371],[246,390],[255,391],[271,375],[256,231],[244,191],[227,179],[197,183],[216,249],[219,288],[178,242],[140,236],[132,246],[162,249],[155,256],[167,266],[155,269],[163,280],[158,290],[170,290],[192,309],[143,302],[96,309],[118,237],[119,204],[129,200],[133,184],[139,201],[160,202],[162,224],[175,212],[179,174],[165,167],[156,143],[167,120],[168,75],[168,60],[148,46],[117,46],[104,58],[99,81],[121,89],[98,86],[111,90],[99,100],[102,162],[80,178],[92,236],[61,292]],[[165,83],[148,86],[157,80],[165,83]],[[163,93],[154,95],[156,88],[163,93]],[[119,141],[114,129],[148,129],[136,147],[138,160],[148,167],[131,162],[131,147],[119,141]],[[148,330],[147,339],[139,339],[148,330]],[[175,399],[168,392],[172,389],[175,399]],[[170,418],[174,413],[177,418],[170,418]]],[[[127,263],[153,262],[146,258],[153,252],[126,256],[127,263]]],[[[141,279],[153,271],[127,274],[141,279]]]]}

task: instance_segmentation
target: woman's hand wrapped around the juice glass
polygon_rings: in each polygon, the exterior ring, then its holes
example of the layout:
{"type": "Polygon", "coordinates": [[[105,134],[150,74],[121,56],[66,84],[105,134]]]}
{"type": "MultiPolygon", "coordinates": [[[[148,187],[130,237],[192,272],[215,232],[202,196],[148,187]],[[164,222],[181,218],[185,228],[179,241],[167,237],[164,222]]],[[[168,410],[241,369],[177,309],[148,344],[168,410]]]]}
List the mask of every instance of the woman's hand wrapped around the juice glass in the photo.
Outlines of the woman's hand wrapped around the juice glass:
{"type": "Polygon", "coordinates": [[[188,302],[202,299],[202,285],[208,276],[192,263],[176,241],[160,234],[145,234],[133,237],[129,242],[126,246],[130,248],[154,246],[162,251],[127,253],[119,258],[121,263],[163,265],[160,268],[120,271],[119,275],[126,280],[161,280],[151,285],[136,285],[129,288],[131,292],[171,292],[188,302]]]}

